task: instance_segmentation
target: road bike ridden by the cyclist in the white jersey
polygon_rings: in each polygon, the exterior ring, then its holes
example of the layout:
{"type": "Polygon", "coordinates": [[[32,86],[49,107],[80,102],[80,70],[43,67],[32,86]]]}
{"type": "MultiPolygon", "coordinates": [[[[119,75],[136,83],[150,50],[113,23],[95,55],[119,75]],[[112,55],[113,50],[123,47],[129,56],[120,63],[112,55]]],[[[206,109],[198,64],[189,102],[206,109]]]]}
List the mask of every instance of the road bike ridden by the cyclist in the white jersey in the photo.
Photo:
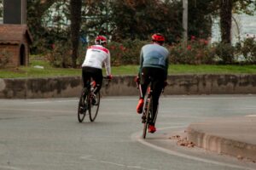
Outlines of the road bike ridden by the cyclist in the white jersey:
{"type": "MultiPolygon", "coordinates": [[[[108,77],[103,77],[103,79],[108,80],[105,84],[105,86],[108,86],[110,79],[108,77]]],[[[87,111],[89,113],[90,122],[94,122],[96,120],[101,101],[100,91],[97,94],[94,93],[96,88],[96,82],[91,78],[89,82],[86,82],[85,88],[82,89],[78,108],[79,122],[84,121],[87,111]]]]}

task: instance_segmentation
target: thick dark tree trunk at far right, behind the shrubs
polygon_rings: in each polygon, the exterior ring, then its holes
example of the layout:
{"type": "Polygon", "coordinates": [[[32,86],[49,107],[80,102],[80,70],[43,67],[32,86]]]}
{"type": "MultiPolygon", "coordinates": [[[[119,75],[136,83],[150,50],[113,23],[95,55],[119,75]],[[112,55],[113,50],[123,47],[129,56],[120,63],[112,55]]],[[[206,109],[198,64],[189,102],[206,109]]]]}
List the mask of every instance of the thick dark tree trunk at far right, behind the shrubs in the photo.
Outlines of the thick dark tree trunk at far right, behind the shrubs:
{"type": "Polygon", "coordinates": [[[229,44],[231,44],[232,3],[233,0],[221,0],[220,3],[221,42],[229,44]]]}

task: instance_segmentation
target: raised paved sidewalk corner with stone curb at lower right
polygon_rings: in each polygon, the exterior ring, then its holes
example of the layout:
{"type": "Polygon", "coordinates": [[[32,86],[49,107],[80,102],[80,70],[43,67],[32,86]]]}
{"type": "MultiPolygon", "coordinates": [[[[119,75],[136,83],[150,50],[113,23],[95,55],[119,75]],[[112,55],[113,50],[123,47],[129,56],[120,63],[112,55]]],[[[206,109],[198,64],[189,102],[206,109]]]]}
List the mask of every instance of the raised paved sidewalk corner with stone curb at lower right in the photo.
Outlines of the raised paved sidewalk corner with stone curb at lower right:
{"type": "Polygon", "coordinates": [[[186,133],[198,147],[256,161],[256,115],[192,123],[186,133]]]}

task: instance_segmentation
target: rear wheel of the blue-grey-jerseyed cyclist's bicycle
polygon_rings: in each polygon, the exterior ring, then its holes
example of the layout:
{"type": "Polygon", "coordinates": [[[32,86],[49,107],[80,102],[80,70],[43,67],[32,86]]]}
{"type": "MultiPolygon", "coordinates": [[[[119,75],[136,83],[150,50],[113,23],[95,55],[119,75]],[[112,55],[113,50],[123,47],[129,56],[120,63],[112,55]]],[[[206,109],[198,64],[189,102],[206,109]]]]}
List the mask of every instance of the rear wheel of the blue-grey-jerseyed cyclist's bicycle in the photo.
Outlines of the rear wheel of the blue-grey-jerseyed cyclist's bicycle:
{"type": "Polygon", "coordinates": [[[148,125],[151,120],[151,113],[153,111],[153,105],[152,105],[152,97],[147,98],[146,104],[145,104],[145,122],[143,126],[143,139],[146,139],[147,136],[147,130],[148,130],[148,125]]]}

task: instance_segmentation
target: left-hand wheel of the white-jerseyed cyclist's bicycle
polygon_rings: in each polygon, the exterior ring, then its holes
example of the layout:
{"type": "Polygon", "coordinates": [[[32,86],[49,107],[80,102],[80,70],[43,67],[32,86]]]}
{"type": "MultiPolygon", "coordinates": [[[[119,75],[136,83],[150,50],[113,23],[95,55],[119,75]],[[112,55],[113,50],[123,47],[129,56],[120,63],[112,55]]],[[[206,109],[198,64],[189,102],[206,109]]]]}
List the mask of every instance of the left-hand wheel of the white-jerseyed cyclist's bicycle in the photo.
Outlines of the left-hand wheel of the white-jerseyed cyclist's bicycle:
{"type": "Polygon", "coordinates": [[[83,88],[80,99],[79,99],[79,109],[78,109],[78,119],[79,122],[84,121],[84,117],[86,115],[86,111],[88,108],[88,89],[83,88]]]}

